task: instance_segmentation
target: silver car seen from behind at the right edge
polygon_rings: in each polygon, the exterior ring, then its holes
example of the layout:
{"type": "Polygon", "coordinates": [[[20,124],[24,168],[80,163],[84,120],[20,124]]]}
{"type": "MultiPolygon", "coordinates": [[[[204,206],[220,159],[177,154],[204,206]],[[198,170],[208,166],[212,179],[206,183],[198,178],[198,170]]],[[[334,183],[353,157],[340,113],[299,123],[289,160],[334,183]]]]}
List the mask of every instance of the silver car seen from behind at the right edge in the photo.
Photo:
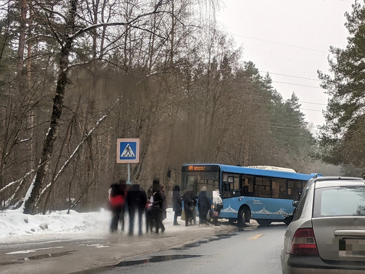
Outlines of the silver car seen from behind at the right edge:
{"type": "Polygon", "coordinates": [[[285,232],[283,274],[365,273],[365,179],[311,179],[297,203],[285,232]]]}

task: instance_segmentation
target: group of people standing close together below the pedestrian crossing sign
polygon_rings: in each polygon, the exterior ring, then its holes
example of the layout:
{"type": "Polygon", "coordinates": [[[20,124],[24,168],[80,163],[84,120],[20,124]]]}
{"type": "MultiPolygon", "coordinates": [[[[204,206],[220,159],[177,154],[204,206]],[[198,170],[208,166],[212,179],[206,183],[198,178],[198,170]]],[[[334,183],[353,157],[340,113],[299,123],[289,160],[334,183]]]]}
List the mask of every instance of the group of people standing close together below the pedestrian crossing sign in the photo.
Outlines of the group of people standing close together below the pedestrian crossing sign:
{"type": "Polygon", "coordinates": [[[165,231],[165,226],[162,223],[166,219],[166,195],[165,186],[160,184],[158,180],[153,180],[152,186],[146,191],[143,190],[139,182],[135,180],[133,184],[126,180],[119,180],[119,183],[114,183],[109,189],[110,209],[112,211],[112,221],[110,231],[118,231],[120,223],[122,231],[124,231],[124,216],[125,212],[129,215],[129,235],[133,235],[134,218],[138,214],[138,234],[142,234],[143,221],[142,217],[146,215],[146,231],[159,233],[165,231]]]}

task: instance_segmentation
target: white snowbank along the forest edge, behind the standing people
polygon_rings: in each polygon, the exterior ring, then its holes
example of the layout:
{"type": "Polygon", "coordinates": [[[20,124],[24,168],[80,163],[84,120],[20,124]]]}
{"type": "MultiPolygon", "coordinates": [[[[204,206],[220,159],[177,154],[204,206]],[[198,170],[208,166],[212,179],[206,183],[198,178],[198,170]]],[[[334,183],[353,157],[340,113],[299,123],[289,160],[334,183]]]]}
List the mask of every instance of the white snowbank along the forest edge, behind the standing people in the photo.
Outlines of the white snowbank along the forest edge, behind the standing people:
{"type": "MultiPolygon", "coordinates": [[[[137,214],[136,214],[137,218],[137,214]]],[[[167,218],[164,225],[169,231],[182,229],[185,222],[178,222],[181,226],[174,226],[174,212],[172,208],[167,209],[167,218]]],[[[27,215],[19,213],[19,210],[6,210],[0,213],[0,238],[19,235],[44,235],[68,232],[100,232],[108,233],[111,221],[111,212],[100,209],[99,212],[78,213],[70,210],[53,212],[47,215],[27,215]]],[[[124,231],[128,231],[129,218],[126,213],[124,231]]],[[[143,217],[144,223],[144,217],[143,217]]],[[[142,226],[146,231],[145,225],[142,226]]],[[[184,227],[185,229],[185,227],[184,227]]],[[[120,227],[119,227],[120,230],[120,227]]],[[[138,233],[138,220],[134,223],[134,233],[138,233]]]]}

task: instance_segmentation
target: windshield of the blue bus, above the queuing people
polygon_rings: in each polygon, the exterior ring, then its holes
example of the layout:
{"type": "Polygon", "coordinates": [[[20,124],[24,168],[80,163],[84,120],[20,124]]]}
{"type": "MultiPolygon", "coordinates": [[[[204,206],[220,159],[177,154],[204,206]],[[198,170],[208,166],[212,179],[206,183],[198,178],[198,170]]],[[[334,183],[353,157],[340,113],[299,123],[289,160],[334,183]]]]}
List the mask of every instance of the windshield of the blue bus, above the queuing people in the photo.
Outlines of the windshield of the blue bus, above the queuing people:
{"type": "Polygon", "coordinates": [[[183,172],[181,174],[181,190],[193,190],[197,193],[203,186],[207,187],[207,191],[219,189],[219,172],[216,171],[194,171],[183,172]]]}

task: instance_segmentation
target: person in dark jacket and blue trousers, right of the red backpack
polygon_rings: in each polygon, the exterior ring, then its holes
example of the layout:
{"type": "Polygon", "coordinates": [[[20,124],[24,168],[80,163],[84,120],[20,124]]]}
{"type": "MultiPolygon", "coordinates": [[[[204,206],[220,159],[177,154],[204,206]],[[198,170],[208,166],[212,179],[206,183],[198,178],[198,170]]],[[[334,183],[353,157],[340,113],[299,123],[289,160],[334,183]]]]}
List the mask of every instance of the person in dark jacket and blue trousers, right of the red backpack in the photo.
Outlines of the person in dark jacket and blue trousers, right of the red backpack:
{"type": "Polygon", "coordinates": [[[135,180],[131,188],[127,192],[129,235],[133,235],[134,216],[136,212],[138,213],[138,234],[142,235],[142,216],[143,212],[145,212],[146,203],[146,192],[141,189],[141,187],[139,186],[139,182],[135,180]]]}

